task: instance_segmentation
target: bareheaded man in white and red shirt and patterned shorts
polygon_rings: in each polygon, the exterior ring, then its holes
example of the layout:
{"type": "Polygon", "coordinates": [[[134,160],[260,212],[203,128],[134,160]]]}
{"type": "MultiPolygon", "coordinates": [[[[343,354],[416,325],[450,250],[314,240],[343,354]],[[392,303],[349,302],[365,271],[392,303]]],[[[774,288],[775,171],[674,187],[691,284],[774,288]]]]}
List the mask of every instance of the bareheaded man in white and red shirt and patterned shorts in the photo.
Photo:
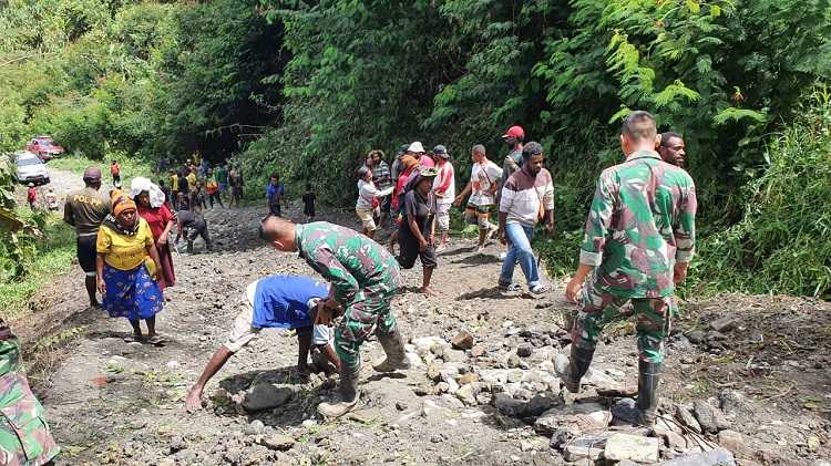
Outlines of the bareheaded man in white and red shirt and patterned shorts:
{"type": "Polygon", "coordinates": [[[468,206],[464,209],[464,219],[468,224],[479,226],[479,252],[484,249],[485,242],[496,231],[497,227],[491,224],[491,213],[494,210],[496,190],[502,179],[502,168],[488,159],[485,148],[476,144],[471,149],[473,166],[468,186],[464,187],[455,205],[461,206],[464,196],[471,194],[468,206]]]}

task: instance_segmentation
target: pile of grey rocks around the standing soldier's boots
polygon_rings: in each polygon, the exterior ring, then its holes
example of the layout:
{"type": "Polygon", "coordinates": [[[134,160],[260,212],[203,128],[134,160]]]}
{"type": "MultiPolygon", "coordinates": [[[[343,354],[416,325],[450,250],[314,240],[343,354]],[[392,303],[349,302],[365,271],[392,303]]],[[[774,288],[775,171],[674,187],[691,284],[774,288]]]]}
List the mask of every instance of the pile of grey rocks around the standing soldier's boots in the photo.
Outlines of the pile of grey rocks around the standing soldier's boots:
{"type": "Polygon", "coordinates": [[[584,377],[586,390],[572,400],[561,392],[553,366],[558,332],[505,329],[514,336],[510,344],[478,343],[472,333],[460,331],[407,345],[408,358],[431,384],[419,390],[425,396],[422,416],[450,418],[453,410],[490,405],[550,437],[552,451],[568,462],[733,464],[730,452],[714,441],[737,453],[743,448],[724,413],[705,401],[663,408],[654,429],[615,425],[615,405],[634,407],[637,394],[636,386],[620,382],[623,372],[593,367],[584,377]]]}

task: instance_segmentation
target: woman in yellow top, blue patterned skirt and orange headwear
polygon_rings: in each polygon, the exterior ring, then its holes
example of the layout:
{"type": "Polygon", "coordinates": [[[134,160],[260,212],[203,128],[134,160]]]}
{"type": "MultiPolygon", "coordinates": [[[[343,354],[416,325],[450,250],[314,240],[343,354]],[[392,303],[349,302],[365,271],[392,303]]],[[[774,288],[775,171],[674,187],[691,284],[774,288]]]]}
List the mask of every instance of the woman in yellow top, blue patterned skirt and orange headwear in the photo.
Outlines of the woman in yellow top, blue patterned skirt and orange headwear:
{"type": "Polygon", "coordinates": [[[112,215],[99,229],[98,287],[104,296],[103,308],[112,318],[127,318],[133,336],[143,341],[140,320],[147,324],[147,342],[162,343],[156,334],[155,315],[164,309],[164,298],[154,279],[158,270],[158,251],[153,232],[136,211],[133,199],[122,193],[113,197],[112,215]]]}

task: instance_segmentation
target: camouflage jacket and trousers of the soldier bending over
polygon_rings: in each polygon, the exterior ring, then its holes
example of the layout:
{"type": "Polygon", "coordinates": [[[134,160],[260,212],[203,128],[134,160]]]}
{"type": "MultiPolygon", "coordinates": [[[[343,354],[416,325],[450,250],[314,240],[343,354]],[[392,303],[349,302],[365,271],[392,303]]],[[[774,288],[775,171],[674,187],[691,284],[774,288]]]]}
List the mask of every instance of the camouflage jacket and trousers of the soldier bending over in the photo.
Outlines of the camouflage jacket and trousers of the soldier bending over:
{"type": "Polygon", "coordinates": [[[403,287],[396,258],[381,245],[349,228],[325,221],[297,226],[300,257],[332,286],[345,308],[335,331],[341,362],[355,367],[360,345],[373,331],[396,331],[390,301],[403,287]]]}

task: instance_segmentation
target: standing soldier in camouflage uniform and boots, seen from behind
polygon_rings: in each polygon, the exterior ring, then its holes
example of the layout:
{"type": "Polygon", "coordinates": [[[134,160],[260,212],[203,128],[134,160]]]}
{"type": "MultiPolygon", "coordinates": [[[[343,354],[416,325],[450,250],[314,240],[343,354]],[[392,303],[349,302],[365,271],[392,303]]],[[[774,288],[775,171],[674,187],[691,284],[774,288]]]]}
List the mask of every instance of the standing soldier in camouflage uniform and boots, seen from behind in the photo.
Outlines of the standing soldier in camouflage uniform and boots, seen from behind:
{"type": "Polygon", "coordinates": [[[564,385],[577,393],[601,331],[632,302],[639,352],[637,408],[614,414],[642,425],[655,423],[664,340],[676,311],[675,284],[686,277],[695,246],[693,178],[663,162],[656,142],[649,113],[634,112],[626,118],[620,135],[626,162],[601,174],[581,265],[566,287],[566,298],[576,302],[579,294],[582,306],[572,329],[571,358],[561,354],[555,360],[564,385]]]}

